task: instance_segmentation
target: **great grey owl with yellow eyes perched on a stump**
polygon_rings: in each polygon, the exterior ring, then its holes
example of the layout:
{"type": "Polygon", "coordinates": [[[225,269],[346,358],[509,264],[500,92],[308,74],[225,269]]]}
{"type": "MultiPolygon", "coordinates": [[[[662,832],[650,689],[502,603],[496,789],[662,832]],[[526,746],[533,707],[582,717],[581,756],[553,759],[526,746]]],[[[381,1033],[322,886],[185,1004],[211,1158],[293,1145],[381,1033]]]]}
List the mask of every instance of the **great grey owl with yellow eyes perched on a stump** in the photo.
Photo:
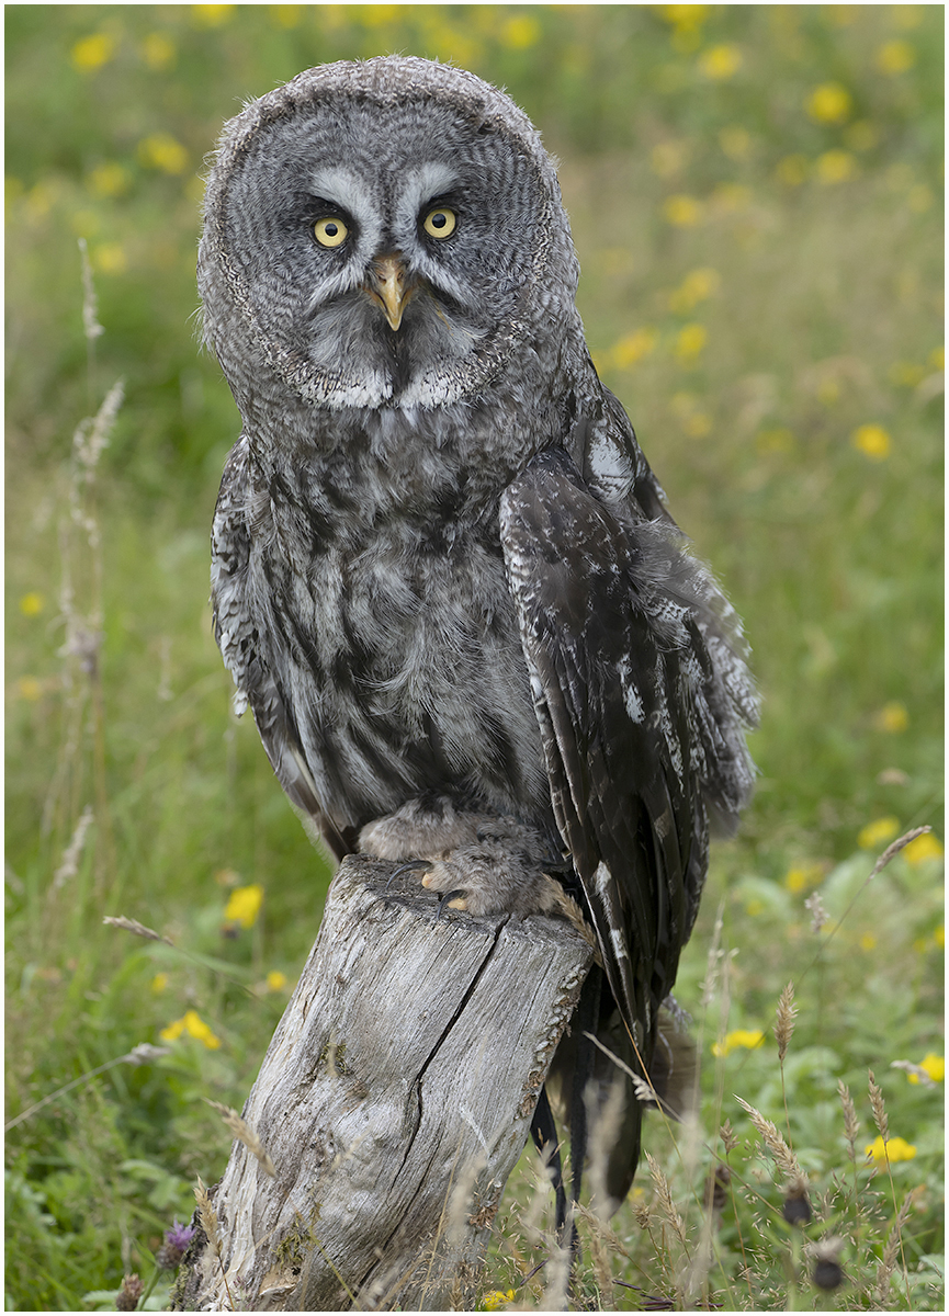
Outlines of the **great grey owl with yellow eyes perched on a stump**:
{"type": "MultiPolygon", "coordinates": [[[[578,274],[537,132],[469,72],[328,64],[233,118],[199,258],[244,421],[215,633],[337,857],[429,861],[473,915],[575,894],[596,1026],[649,1075],[756,696],[596,376],[578,274]]],[[[630,1100],[616,1198],[638,1145],[630,1100]]]]}

